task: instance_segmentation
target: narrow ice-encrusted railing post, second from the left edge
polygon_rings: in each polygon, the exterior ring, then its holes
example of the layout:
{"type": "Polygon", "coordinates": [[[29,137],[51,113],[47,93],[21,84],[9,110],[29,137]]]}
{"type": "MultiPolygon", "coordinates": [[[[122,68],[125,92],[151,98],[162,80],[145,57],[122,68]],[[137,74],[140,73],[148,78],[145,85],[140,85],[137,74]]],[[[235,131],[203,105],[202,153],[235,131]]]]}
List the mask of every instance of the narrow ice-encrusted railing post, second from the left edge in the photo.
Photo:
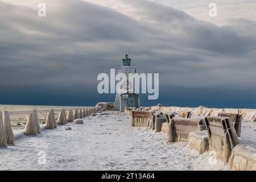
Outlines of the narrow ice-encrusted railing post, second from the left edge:
{"type": "Polygon", "coordinates": [[[9,111],[4,111],[3,128],[5,129],[6,142],[9,144],[14,144],[14,134],[13,134],[13,130],[11,129],[9,111]]]}

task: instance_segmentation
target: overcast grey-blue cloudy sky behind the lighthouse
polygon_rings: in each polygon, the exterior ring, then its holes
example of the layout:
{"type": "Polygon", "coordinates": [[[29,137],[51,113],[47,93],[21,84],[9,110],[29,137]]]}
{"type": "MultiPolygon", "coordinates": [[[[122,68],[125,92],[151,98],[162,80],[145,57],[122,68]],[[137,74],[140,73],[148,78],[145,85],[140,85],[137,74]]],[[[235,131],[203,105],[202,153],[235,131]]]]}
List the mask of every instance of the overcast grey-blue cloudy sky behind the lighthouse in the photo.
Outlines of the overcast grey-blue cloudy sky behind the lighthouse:
{"type": "Polygon", "coordinates": [[[256,1],[0,0],[0,104],[95,105],[97,75],[131,48],[159,73],[142,105],[256,107],[256,1]],[[44,2],[47,16],[38,16],[44,2]]]}

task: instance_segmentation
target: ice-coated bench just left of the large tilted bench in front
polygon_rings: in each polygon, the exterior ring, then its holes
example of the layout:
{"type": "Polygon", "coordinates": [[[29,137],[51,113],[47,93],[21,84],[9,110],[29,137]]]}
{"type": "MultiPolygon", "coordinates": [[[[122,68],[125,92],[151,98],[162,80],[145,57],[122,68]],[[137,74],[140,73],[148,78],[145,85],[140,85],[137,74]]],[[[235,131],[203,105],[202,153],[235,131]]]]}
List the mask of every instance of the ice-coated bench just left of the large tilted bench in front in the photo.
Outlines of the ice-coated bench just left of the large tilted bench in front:
{"type": "Polygon", "coordinates": [[[191,131],[205,130],[204,119],[172,118],[168,123],[169,142],[187,142],[191,131]]]}

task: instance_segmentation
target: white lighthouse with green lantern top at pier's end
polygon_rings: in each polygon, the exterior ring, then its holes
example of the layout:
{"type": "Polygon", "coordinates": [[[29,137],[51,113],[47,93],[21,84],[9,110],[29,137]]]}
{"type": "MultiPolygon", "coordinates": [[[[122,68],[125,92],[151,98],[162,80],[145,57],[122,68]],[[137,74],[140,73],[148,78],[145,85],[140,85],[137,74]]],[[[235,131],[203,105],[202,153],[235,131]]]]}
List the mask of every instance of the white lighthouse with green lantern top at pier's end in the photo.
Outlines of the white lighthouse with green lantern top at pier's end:
{"type": "MultiPolygon", "coordinates": [[[[122,68],[118,73],[124,73],[128,78],[130,73],[136,73],[136,68],[131,68],[131,59],[128,55],[122,59],[122,68]]],[[[129,91],[132,88],[133,80],[123,82],[126,91],[115,95],[114,110],[123,112],[125,107],[139,107],[139,94],[129,91]]]]}

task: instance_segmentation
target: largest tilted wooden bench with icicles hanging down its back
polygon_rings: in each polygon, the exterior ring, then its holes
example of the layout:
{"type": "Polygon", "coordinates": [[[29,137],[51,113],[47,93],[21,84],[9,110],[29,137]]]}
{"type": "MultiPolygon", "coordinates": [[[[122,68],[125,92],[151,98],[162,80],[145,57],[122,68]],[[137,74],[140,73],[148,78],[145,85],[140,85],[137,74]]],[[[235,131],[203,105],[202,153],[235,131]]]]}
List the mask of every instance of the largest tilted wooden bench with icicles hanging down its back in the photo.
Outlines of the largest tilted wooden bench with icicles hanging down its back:
{"type": "Polygon", "coordinates": [[[233,123],[226,117],[206,117],[209,151],[214,152],[214,158],[228,163],[234,147],[239,143],[233,123]]]}

